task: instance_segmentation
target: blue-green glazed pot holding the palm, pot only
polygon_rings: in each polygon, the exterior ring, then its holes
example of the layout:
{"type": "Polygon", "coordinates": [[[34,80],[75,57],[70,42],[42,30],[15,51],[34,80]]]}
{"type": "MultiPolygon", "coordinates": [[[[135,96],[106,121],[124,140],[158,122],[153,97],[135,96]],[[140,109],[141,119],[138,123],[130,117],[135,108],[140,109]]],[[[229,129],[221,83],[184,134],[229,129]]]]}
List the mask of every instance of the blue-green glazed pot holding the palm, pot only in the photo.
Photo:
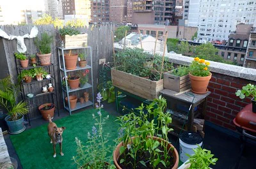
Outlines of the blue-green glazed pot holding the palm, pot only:
{"type": "Polygon", "coordinates": [[[24,131],[26,129],[26,126],[24,125],[24,116],[23,115],[17,121],[10,121],[10,118],[11,118],[10,115],[7,115],[4,119],[7,123],[8,132],[10,134],[16,135],[16,134],[19,134],[19,133],[21,133],[22,131],[24,131]]]}

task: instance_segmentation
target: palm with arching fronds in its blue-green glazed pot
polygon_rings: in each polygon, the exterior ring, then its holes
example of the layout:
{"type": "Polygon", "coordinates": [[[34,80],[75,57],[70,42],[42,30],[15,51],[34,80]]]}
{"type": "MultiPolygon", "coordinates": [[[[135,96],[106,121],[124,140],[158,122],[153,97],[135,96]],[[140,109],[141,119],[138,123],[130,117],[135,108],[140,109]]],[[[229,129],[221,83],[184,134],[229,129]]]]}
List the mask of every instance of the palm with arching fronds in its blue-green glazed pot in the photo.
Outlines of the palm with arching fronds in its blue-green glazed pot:
{"type": "Polygon", "coordinates": [[[0,80],[0,105],[8,112],[4,120],[11,134],[18,134],[26,129],[24,115],[28,114],[28,104],[26,101],[17,103],[18,92],[19,87],[12,83],[10,77],[0,80]]]}

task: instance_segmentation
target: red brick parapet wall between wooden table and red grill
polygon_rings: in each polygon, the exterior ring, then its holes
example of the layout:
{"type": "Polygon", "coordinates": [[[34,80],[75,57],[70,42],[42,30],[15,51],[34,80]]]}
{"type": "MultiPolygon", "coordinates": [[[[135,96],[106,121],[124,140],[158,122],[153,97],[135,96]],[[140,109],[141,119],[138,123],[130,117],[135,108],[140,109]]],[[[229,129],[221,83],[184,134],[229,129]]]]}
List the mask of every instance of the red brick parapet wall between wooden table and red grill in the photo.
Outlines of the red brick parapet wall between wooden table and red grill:
{"type": "Polygon", "coordinates": [[[233,119],[251,98],[240,99],[235,92],[246,84],[255,84],[243,78],[212,73],[208,89],[212,93],[207,99],[205,119],[224,128],[236,130],[233,119]]]}

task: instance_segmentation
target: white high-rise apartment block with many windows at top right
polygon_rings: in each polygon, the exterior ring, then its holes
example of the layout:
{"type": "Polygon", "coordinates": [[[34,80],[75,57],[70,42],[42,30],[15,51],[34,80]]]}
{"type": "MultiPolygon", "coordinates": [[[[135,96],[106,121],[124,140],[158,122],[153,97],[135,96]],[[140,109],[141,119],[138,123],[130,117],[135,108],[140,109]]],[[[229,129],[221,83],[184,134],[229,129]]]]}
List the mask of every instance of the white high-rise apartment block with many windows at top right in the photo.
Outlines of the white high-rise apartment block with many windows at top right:
{"type": "Polygon", "coordinates": [[[256,22],[255,0],[185,0],[185,4],[187,2],[188,26],[197,24],[198,38],[207,37],[208,41],[227,41],[237,24],[256,22]]]}

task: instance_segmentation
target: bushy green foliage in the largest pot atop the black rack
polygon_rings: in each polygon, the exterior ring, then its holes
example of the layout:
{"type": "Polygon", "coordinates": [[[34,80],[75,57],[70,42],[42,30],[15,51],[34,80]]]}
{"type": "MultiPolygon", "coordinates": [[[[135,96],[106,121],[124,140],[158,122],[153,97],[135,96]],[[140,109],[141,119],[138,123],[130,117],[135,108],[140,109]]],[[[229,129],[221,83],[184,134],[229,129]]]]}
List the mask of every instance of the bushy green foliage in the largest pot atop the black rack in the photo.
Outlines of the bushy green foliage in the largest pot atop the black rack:
{"type": "Polygon", "coordinates": [[[52,36],[49,36],[46,32],[44,32],[42,33],[41,40],[36,37],[34,42],[36,47],[39,48],[41,54],[50,54],[52,41],[52,36]]]}

